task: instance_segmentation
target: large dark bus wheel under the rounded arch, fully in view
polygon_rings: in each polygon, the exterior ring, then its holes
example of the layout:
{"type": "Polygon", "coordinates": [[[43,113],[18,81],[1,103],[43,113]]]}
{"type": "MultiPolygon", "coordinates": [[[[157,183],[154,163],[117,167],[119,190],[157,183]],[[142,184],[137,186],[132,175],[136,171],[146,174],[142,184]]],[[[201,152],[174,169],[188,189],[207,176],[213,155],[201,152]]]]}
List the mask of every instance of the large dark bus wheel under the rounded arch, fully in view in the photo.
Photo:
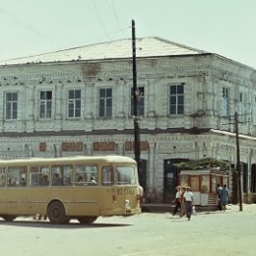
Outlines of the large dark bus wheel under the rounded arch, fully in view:
{"type": "Polygon", "coordinates": [[[52,224],[66,224],[68,223],[68,218],[65,214],[65,208],[62,203],[54,201],[50,203],[47,209],[47,216],[50,223],[52,224]]]}

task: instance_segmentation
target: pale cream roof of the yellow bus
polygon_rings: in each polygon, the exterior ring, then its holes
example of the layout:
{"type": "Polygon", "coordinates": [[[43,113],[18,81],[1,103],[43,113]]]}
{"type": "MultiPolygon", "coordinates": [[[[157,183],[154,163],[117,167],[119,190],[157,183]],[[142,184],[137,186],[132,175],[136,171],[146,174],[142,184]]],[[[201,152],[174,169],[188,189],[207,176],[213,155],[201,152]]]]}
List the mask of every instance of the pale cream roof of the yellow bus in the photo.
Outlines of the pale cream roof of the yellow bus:
{"type": "Polygon", "coordinates": [[[0,160],[0,165],[13,165],[13,164],[33,164],[33,163],[49,163],[49,162],[72,162],[72,161],[87,161],[87,162],[129,162],[136,163],[135,160],[123,157],[123,156],[98,156],[98,157],[85,157],[85,156],[75,156],[75,157],[65,157],[65,158],[30,158],[30,159],[20,159],[20,160],[0,160]]]}

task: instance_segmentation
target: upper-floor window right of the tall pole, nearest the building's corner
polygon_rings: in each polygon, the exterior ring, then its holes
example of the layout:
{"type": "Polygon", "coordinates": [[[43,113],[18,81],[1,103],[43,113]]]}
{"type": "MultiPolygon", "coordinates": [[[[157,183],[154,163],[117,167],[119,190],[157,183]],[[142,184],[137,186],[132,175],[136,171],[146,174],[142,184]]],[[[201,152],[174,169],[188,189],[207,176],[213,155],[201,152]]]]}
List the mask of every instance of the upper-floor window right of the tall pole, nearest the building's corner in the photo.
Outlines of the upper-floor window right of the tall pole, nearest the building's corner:
{"type": "Polygon", "coordinates": [[[184,85],[172,85],[169,87],[169,114],[184,113],[184,85]]]}

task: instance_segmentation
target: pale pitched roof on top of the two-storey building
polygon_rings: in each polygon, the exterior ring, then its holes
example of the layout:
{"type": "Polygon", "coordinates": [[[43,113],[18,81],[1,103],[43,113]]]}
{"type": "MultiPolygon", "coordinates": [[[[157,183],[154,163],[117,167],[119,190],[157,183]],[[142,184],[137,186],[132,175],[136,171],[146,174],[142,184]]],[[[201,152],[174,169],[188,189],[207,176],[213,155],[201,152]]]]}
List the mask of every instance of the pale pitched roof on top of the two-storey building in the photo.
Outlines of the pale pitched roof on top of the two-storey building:
{"type": "MultiPolygon", "coordinates": [[[[196,55],[208,53],[160,37],[136,38],[136,57],[196,55]]],[[[120,39],[0,61],[0,65],[132,58],[132,40],[120,39]]]]}

